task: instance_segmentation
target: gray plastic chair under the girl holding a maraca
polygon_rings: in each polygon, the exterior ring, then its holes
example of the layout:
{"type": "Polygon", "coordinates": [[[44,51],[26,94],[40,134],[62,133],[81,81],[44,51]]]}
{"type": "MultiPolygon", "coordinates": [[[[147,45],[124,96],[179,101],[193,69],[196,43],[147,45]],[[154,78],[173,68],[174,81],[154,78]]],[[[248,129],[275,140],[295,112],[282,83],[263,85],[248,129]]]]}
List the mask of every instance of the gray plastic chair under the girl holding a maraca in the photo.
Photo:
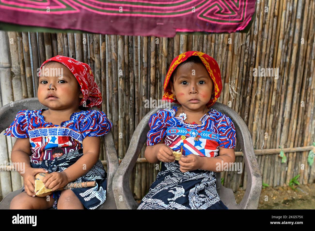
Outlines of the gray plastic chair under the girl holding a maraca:
{"type": "MultiPolygon", "coordinates": [[[[42,108],[46,108],[42,104],[39,103],[37,98],[29,98],[29,99],[21,99],[15,101],[13,103],[13,107],[10,104],[6,104],[0,108],[0,132],[9,127],[9,125],[14,121],[16,114],[20,110],[39,110],[42,108]]],[[[93,110],[98,110],[97,107],[92,108],[93,110]]],[[[113,133],[112,130],[103,136],[103,142],[107,157],[107,190],[106,190],[106,200],[100,205],[97,209],[117,209],[113,190],[112,190],[112,182],[113,176],[116,172],[119,162],[117,156],[117,150],[115,148],[113,133]]],[[[9,209],[11,200],[19,194],[24,185],[14,192],[7,194],[3,200],[0,202],[0,209],[9,209]]],[[[51,208],[53,209],[53,208],[51,208]]]]}

